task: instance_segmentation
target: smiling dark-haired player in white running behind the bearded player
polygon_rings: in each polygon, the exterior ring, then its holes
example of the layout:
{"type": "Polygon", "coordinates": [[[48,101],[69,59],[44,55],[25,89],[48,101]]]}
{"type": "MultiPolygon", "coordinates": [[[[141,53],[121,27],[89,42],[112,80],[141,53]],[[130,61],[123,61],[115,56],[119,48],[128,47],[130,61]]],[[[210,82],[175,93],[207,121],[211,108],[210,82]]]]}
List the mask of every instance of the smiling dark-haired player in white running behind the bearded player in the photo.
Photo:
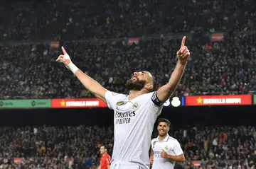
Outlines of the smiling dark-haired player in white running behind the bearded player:
{"type": "Polygon", "coordinates": [[[183,151],[176,139],[169,136],[169,120],[157,120],[159,136],[151,140],[150,163],[152,169],[173,169],[176,162],[185,161],[183,151]]]}

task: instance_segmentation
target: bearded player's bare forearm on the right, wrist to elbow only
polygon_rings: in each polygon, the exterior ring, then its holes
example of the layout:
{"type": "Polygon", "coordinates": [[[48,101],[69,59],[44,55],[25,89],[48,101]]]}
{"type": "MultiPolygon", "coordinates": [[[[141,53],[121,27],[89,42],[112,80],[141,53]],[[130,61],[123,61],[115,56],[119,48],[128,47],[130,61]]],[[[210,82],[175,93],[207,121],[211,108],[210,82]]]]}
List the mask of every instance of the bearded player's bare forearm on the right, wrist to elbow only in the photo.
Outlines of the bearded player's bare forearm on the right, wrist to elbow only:
{"type": "Polygon", "coordinates": [[[186,63],[181,63],[181,61],[178,60],[174,72],[171,74],[171,78],[167,83],[167,86],[169,86],[169,91],[175,91],[176,87],[178,86],[178,83],[181,81],[185,67],[186,63]]]}

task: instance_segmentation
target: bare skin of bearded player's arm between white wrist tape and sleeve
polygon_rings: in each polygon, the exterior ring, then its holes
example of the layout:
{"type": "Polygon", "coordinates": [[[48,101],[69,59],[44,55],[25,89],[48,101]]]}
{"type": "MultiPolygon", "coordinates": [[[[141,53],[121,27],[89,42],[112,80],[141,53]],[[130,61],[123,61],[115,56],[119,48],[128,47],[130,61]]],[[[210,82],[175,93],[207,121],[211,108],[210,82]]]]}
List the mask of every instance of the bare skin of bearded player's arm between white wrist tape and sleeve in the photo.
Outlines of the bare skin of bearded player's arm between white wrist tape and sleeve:
{"type": "Polygon", "coordinates": [[[75,71],[75,76],[78,77],[79,81],[82,83],[88,91],[92,92],[97,98],[105,100],[105,93],[107,89],[103,88],[100,83],[92,79],[90,76],[87,76],[82,71],[78,69],[75,71]]]}

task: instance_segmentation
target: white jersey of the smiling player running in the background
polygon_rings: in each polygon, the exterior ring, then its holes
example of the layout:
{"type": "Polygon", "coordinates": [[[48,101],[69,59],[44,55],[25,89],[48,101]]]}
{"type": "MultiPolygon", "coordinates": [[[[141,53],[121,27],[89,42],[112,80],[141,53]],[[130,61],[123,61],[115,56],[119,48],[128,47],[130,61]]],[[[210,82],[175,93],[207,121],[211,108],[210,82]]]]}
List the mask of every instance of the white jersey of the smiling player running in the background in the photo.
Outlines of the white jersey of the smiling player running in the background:
{"type": "Polygon", "coordinates": [[[176,139],[167,135],[162,141],[159,141],[159,137],[151,140],[151,148],[154,151],[154,162],[152,169],[173,169],[175,161],[171,161],[168,158],[161,158],[161,152],[164,150],[167,154],[172,156],[179,156],[183,154],[181,145],[176,139]]]}

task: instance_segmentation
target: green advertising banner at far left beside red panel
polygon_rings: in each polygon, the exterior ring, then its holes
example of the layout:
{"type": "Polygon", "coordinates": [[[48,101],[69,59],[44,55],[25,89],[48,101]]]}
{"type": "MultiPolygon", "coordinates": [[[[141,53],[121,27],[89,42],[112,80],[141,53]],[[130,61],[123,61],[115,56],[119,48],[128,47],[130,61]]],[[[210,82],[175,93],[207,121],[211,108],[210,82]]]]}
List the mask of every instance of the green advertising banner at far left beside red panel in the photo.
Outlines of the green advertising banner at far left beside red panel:
{"type": "Polygon", "coordinates": [[[0,100],[0,109],[5,108],[47,108],[50,99],[0,100]]]}

